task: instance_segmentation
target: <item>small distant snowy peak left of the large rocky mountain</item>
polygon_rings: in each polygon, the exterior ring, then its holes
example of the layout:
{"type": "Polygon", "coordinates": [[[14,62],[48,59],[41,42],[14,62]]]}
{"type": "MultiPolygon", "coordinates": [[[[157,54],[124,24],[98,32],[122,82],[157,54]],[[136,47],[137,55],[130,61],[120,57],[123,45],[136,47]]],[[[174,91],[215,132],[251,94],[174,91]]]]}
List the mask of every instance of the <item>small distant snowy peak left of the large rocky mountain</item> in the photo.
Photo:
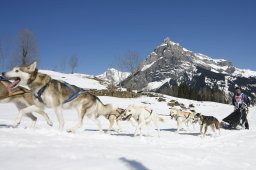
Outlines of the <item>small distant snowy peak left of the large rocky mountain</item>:
{"type": "Polygon", "coordinates": [[[130,75],[129,72],[121,72],[114,68],[110,68],[103,74],[98,75],[97,77],[105,81],[108,81],[110,83],[118,84],[124,79],[126,79],[129,75],[130,75]]]}

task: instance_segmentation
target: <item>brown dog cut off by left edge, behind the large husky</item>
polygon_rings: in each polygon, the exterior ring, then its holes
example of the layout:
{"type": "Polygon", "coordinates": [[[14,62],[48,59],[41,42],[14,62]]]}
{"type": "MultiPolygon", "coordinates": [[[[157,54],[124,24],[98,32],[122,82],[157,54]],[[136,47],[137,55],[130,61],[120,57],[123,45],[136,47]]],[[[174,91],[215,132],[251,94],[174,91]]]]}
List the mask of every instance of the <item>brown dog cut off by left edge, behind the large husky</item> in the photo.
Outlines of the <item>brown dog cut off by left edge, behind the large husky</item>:
{"type": "MultiPolygon", "coordinates": [[[[0,84],[1,91],[6,91],[5,95],[1,95],[2,97],[0,97],[1,103],[14,103],[19,111],[30,105],[33,105],[32,93],[26,88],[18,86],[15,89],[12,89],[12,87],[15,86],[15,81],[11,83],[7,79],[1,80],[0,84]]],[[[49,126],[53,125],[44,110],[39,110],[38,113],[45,118],[49,126]]],[[[26,113],[25,116],[32,120],[31,127],[35,127],[37,118],[31,112],[26,113]]]]}

